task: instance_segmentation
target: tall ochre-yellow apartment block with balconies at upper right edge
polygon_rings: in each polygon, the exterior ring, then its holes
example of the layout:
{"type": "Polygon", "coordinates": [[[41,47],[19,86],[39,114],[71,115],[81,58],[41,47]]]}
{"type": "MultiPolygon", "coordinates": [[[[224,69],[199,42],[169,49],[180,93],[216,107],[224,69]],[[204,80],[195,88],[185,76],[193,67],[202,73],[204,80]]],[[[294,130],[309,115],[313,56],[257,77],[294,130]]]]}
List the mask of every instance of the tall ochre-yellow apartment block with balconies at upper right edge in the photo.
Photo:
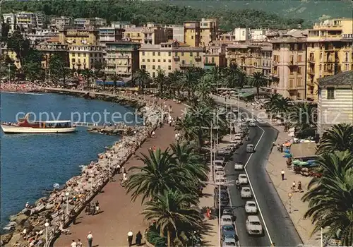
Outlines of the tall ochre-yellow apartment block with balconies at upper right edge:
{"type": "Polygon", "coordinates": [[[306,98],[317,101],[318,78],[353,70],[353,19],[316,23],[306,42],[306,98]]]}

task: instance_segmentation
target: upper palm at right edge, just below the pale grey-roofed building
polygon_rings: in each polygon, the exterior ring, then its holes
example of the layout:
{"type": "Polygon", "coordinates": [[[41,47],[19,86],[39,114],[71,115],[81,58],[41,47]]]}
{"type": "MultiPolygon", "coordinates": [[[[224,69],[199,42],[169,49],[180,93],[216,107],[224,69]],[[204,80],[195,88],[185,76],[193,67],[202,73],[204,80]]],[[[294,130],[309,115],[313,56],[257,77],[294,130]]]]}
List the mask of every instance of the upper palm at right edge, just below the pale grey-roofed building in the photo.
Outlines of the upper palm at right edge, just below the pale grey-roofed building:
{"type": "Polygon", "coordinates": [[[318,154],[349,150],[353,153],[353,125],[335,124],[323,134],[318,146],[318,154]]]}

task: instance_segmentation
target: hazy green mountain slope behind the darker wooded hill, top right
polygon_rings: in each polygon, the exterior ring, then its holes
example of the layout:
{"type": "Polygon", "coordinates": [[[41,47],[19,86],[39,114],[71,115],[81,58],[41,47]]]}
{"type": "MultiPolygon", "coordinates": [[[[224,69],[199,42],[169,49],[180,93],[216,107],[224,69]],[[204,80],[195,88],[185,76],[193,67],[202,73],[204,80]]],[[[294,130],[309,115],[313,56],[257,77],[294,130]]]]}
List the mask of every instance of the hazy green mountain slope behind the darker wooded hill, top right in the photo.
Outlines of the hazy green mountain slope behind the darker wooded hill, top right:
{"type": "Polygon", "coordinates": [[[172,5],[191,6],[204,11],[213,10],[239,10],[253,8],[265,12],[277,13],[286,18],[302,18],[309,22],[318,21],[320,18],[353,18],[353,1],[309,1],[309,0],[225,0],[225,1],[188,1],[164,0],[172,5]]]}

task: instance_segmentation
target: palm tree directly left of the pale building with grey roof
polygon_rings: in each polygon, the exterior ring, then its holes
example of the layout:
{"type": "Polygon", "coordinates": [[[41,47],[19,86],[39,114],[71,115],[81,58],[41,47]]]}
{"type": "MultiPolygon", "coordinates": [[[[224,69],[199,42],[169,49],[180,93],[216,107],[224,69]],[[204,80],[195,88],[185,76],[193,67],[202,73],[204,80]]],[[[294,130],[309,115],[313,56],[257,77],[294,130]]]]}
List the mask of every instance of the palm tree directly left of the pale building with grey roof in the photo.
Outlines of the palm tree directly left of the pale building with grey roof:
{"type": "Polygon", "coordinates": [[[313,136],[316,128],[316,105],[308,102],[294,104],[287,124],[289,128],[294,127],[301,138],[313,136]]]}

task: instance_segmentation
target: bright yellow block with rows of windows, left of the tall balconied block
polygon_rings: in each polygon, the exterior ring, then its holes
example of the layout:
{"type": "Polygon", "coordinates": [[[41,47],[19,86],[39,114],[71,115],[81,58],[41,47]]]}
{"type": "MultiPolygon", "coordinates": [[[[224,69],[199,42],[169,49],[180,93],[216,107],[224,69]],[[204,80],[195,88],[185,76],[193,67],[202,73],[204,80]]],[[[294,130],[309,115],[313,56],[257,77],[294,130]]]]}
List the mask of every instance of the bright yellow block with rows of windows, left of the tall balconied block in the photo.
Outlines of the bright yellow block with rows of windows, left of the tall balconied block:
{"type": "Polygon", "coordinates": [[[92,69],[96,61],[104,63],[102,47],[95,44],[68,44],[68,60],[71,69],[92,69]]]}

